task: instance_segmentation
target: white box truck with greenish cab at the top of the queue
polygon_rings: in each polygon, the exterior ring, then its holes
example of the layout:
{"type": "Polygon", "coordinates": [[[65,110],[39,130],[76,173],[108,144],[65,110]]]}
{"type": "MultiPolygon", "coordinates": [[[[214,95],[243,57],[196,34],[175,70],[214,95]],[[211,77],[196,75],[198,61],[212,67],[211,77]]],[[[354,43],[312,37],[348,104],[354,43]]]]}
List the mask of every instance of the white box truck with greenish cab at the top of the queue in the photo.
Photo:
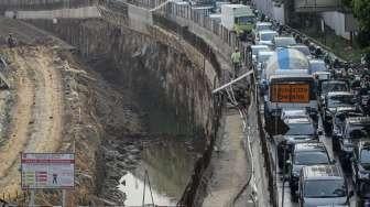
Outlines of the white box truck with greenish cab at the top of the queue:
{"type": "Polygon", "coordinates": [[[221,24],[235,31],[239,36],[251,32],[254,28],[255,17],[249,6],[221,4],[221,24]]]}

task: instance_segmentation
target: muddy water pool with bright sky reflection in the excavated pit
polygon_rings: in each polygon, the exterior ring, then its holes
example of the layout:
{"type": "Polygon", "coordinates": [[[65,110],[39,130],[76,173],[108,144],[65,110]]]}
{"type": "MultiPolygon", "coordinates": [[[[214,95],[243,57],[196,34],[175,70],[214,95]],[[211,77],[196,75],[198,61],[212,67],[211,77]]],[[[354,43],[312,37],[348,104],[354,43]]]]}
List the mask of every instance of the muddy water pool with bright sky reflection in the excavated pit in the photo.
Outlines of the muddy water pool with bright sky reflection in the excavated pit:
{"type": "Polygon", "coordinates": [[[143,197],[145,204],[152,204],[151,195],[155,205],[176,205],[203,145],[198,141],[188,140],[163,138],[145,143],[140,164],[122,176],[121,184],[118,185],[118,188],[126,193],[124,205],[140,206],[143,197]]]}

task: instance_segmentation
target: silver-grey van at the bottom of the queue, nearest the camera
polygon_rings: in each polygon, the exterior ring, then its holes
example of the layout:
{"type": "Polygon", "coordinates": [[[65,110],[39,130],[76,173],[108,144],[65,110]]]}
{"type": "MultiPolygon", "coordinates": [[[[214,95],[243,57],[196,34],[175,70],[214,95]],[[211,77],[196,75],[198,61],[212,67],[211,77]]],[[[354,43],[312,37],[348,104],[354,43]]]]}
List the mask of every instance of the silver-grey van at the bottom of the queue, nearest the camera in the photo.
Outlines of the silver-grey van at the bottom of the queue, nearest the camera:
{"type": "Polygon", "coordinates": [[[304,166],[298,182],[300,207],[348,206],[353,196],[348,190],[346,178],[339,166],[304,166]]]}

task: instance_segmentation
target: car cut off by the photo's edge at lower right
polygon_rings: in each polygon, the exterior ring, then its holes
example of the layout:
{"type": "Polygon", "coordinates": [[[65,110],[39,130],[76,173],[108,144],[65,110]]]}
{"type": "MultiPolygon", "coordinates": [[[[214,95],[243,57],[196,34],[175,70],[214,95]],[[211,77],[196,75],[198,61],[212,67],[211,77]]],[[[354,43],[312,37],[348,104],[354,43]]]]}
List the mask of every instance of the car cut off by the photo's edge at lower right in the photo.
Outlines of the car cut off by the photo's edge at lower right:
{"type": "Polygon", "coordinates": [[[357,195],[370,198],[370,141],[360,141],[351,157],[352,181],[357,195]]]}

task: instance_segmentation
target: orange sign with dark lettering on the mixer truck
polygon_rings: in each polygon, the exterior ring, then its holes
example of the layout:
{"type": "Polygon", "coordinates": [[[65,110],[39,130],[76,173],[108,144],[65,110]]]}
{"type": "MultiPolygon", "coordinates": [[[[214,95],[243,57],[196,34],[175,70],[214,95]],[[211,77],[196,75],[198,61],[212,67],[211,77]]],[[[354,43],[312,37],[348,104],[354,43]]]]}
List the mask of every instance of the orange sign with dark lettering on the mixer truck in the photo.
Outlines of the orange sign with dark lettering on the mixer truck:
{"type": "Polygon", "coordinates": [[[308,84],[275,84],[271,88],[272,102],[308,102],[308,84]]]}

